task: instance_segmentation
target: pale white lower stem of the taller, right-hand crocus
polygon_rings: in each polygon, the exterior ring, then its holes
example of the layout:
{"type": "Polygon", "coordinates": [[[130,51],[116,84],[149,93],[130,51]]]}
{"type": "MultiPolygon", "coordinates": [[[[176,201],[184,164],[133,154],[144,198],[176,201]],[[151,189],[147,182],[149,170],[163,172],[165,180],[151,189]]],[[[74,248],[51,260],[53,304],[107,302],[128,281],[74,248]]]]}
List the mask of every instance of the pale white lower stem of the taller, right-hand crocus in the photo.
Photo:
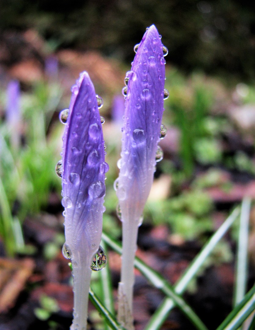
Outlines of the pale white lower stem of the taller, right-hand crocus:
{"type": "Polygon", "coordinates": [[[118,288],[118,321],[127,330],[133,329],[134,260],[137,250],[138,225],[122,222],[122,265],[118,288]]]}

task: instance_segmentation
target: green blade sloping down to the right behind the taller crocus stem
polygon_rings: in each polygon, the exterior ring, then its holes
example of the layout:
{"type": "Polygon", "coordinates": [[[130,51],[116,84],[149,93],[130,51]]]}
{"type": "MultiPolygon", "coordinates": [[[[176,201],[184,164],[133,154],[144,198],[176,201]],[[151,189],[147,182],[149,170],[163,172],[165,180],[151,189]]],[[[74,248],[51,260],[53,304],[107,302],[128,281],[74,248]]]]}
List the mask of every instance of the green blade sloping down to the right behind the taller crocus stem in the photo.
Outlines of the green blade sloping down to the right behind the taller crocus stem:
{"type": "MultiPolygon", "coordinates": [[[[108,235],[102,235],[102,239],[116,252],[121,253],[121,246],[113,241],[108,235]],[[115,247],[115,248],[114,248],[115,247]]],[[[142,260],[139,258],[135,258],[135,267],[143,274],[143,276],[148,279],[155,287],[159,288],[162,292],[164,292],[167,296],[171,297],[175,304],[180,308],[180,310],[187,316],[187,318],[196,326],[197,329],[206,330],[207,327],[200,320],[197,314],[192,310],[192,308],[184,301],[184,299],[176,294],[173,288],[169,285],[169,283],[156,271],[147,266],[142,260]]]]}

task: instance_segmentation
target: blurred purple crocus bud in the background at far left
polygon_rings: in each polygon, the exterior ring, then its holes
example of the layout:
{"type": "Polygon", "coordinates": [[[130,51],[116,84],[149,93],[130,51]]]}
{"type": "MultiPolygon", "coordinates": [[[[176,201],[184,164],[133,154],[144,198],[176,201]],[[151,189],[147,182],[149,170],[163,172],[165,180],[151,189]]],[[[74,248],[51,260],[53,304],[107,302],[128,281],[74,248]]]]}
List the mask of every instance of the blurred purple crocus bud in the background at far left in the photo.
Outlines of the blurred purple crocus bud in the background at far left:
{"type": "Polygon", "coordinates": [[[17,80],[7,87],[6,121],[11,130],[12,146],[18,148],[20,142],[20,86],[17,80]]]}

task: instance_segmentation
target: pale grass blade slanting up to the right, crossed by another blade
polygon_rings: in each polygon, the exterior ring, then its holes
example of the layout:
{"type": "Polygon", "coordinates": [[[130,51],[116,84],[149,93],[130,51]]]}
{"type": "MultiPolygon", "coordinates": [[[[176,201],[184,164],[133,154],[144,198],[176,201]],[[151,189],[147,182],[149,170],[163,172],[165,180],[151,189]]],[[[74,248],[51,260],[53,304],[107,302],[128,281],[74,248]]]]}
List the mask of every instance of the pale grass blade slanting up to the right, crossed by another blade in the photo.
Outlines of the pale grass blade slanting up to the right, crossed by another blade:
{"type": "MultiPolygon", "coordinates": [[[[194,278],[197,274],[200,267],[205,262],[208,255],[214,249],[216,244],[220,241],[220,239],[225,235],[227,230],[236,220],[239,215],[239,207],[237,207],[232,214],[223,222],[223,224],[217,229],[217,231],[212,235],[204,248],[200,251],[197,257],[193,260],[191,265],[187,268],[184,275],[178,280],[174,287],[175,292],[181,294],[186,289],[188,283],[194,278]]],[[[151,317],[149,323],[145,327],[144,330],[157,330],[164,323],[167,318],[169,312],[175,307],[175,303],[171,298],[165,298],[157,311],[155,312],[158,315],[157,319],[155,317],[151,317]]]]}

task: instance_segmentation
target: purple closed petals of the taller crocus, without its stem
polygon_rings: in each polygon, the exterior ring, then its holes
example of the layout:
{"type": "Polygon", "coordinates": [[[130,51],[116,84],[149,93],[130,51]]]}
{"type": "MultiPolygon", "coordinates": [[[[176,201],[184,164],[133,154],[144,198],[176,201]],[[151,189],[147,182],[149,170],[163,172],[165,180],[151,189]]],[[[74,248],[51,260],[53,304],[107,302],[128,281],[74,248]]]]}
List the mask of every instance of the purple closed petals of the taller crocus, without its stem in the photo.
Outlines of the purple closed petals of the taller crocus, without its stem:
{"type": "Polygon", "coordinates": [[[154,25],[145,32],[128,74],[117,196],[123,221],[139,221],[155,168],[163,115],[165,59],[154,25]]]}

